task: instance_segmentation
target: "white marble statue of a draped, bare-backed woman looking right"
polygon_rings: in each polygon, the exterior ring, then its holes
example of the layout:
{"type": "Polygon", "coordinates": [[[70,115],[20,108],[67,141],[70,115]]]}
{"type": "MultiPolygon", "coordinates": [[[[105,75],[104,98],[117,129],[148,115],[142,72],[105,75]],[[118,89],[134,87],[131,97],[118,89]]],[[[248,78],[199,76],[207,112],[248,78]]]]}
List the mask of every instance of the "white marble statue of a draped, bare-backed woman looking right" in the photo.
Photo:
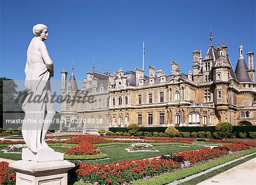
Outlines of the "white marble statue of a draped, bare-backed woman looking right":
{"type": "MultiPolygon", "coordinates": [[[[53,152],[44,139],[55,115],[54,105],[50,102],[51,86],[49,81],[53,77],[53,62],[44,44],[44,40],[47,40],[48,37],[48,28],[44,24],[36,24],[32,30],[35,37],[27,49],[25,68],[25,88],[28,91],[28,96],[22,105],[25,112],[22,135],[29,149],[26,150],[26,155],[36,155],[40,151],[44,151],[44,154],[49,151],[53,152]]],[[[24,156],[22,155],[22,157],[24,156]]],[[[33,161],[33,159],[32,156],[31,160],[33,161]]]]}

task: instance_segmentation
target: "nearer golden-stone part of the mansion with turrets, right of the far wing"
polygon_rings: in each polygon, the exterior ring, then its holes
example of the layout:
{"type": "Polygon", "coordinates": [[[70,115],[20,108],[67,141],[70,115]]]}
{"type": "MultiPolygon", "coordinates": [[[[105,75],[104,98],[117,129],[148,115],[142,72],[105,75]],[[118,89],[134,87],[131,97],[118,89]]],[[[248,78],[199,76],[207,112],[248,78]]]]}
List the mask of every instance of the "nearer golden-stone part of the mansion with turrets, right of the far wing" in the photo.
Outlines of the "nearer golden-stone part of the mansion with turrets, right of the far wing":
{"type": "MultiPolygon", "coordinates": [[[[109,127],[131,123],[141,127],[210,126],[224,121],[256,125],[254,53],[247,53],[247,68],[242,46],[239,52],[235,71],[228,47],[222,43],[216,48],[211,40],[204,58],[201,51],[192,52],[193,71],[188,74],[180,72],[176,61],[171,61],[170,75],[164,70],[155,71],[154,66],[148,66],[149,77],[143,69],[123,72],[121,66],[116,74],[105,74],[109,110],[104,113],[109,127]]],[[[84,115],[74,107],[73,115],[84,115]]]]}

